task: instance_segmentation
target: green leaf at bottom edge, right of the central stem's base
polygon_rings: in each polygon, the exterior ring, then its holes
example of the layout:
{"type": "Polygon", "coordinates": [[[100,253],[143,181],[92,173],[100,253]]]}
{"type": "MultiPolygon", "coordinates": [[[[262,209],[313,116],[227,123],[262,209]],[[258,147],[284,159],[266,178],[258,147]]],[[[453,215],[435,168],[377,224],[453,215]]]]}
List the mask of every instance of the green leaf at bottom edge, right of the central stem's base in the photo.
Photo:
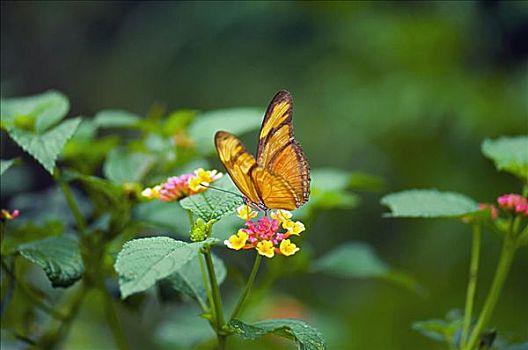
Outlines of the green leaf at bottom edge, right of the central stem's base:
{"type": "Polygon", "coordinates": [[[232,320],[229,325],[242,338],[255,340],[267,334],[293,339],[299,349],[324,350],[326,342],[323,335],[304,321],[294,319],[271,319],[253,324],[232,320]]]}

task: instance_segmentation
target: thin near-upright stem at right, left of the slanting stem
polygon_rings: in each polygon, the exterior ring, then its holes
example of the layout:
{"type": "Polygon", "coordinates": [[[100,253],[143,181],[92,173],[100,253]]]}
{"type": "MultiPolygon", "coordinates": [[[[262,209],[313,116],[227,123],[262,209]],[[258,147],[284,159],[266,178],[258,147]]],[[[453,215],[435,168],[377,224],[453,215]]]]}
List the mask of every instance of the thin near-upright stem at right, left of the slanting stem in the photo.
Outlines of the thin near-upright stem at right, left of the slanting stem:
{"type": "Polygon", "coordinates": [[[464,310],[464,327],[462,330],[462,339],[460,347],[463,348],[467,341],[469,334],[469,327],[471,325],[473,305],[475,302],[475,291],[477,288],[478,267],[480,258],[480,238],[481,230],[480,224],[473,224],[472,243],[471,243],[471,262],[469,265],[469,281],[466,294],[466,307],[464,310]]]}

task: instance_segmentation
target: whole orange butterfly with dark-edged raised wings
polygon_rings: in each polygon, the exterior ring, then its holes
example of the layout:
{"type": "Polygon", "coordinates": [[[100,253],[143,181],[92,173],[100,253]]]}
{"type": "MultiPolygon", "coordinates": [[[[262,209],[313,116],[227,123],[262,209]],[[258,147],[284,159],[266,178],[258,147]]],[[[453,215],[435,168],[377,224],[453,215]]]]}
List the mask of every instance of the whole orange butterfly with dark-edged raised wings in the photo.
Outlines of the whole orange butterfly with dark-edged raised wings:
{"type": "Polygon", "coordinates": [[[294,210],[310,196],[310,166],[293,136],[292,113],[290,93],[279,91],[266,110],[256,159],[234,135],[215,135],[218,156],[246,204],[264,212],[294,210]]]}

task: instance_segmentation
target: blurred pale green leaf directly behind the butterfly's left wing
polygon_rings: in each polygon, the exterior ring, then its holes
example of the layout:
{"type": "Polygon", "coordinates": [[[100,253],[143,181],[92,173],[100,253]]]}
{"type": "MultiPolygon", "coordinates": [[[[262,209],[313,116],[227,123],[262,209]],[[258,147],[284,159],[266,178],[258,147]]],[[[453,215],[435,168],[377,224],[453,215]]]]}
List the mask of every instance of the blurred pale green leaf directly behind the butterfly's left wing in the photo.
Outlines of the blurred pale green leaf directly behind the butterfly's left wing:
{"type": "Polygon", "coordinates": [[[189,136],[202,153],[214,151],[214,135],[219,130],[240,136],[262,124],[264,111],[257,108],[219,109],[199,114],[189,127],[189,136]]]}

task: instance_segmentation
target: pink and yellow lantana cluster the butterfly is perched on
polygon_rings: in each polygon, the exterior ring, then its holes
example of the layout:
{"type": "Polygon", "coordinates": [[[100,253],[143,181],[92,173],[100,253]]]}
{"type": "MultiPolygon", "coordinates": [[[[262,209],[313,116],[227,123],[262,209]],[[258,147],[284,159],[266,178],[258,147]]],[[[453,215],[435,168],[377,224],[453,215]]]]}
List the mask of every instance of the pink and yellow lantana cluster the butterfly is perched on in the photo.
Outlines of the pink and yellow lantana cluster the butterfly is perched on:
{"type": "Polygon", "coordinates": [[[237,212],[246,221],[246,227],[224,241],[227,247],[234,250],[255,248],[267,258],[272,258],[275,254],[290,256],[299,251],[290,236],[300,236],[305,227],[302,222],[292,220],[291,212],[279,209],[271,212],[270,217],[264,216],[256,222],[253,219],[258,213],[248,205],[240,206],[237,212]]]}

